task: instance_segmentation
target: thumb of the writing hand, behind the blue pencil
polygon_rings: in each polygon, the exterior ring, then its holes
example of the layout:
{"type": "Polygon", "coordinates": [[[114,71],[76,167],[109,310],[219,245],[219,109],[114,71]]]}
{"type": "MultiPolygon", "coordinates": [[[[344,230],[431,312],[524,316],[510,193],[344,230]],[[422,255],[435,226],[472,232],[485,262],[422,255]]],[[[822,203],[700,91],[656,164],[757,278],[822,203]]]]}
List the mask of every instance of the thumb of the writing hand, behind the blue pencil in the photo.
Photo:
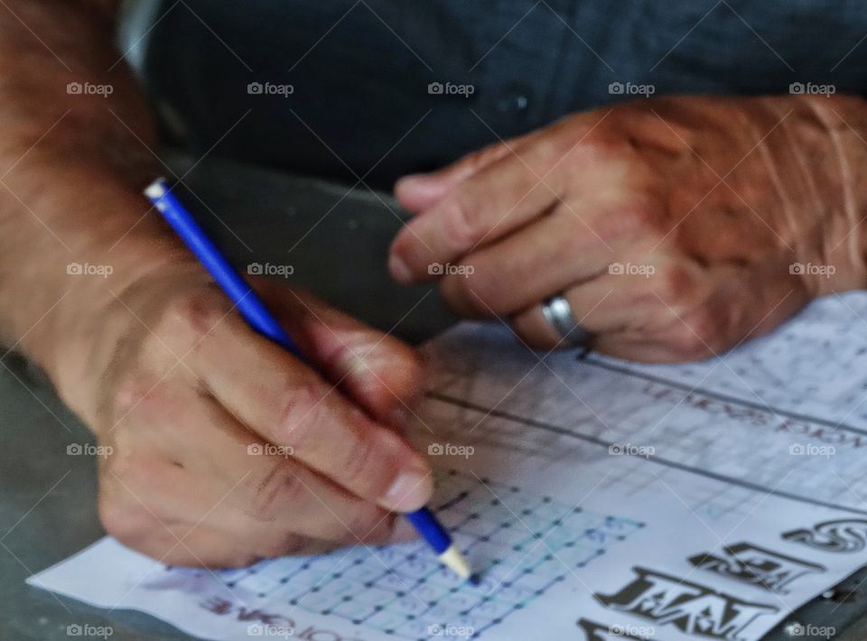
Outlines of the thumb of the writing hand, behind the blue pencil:
{"type": "Polygon", "coordinates": [[[266,299],[318,371],[375,419],[404,427],[424,391],[415,349],[307,293],[263,283],[266,299]]]}

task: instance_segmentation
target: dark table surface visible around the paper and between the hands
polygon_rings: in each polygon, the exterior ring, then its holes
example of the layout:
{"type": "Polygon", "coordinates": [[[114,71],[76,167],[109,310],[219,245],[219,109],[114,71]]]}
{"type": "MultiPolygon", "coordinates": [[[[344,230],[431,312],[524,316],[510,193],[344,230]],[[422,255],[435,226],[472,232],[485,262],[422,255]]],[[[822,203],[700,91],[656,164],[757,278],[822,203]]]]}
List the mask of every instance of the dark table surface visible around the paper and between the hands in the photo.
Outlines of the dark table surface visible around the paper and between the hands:
{"type": "MultiPolygon", "coordinates": [[[[172,161],[180,175],[184,165],[172,161]]],[[[191,208],[238,265],[293,265],[293,283],[411,342],[455,321],[431,288],[398,287],[388,277],[387,246],[405,214],[387,195],[223,161],[200,163],[184,181],[195,193],[187,197],[191,208]]],[[[113,639],[190,638],[141,613],[90,608],[24,584],[104,532],[95,461],[67,454],[70,443],[92,441],[89,431],[40,372],[14,354],[0,364],[0,640],[66,640],[73,624],[111,627],[113,639]]],[[[788,624],[867,639],[865,580],[867,571],[855,572],[788,624]]],[[[792,636],[786,624],[768,636],[796,637],[814,638],[792,636]]]]}

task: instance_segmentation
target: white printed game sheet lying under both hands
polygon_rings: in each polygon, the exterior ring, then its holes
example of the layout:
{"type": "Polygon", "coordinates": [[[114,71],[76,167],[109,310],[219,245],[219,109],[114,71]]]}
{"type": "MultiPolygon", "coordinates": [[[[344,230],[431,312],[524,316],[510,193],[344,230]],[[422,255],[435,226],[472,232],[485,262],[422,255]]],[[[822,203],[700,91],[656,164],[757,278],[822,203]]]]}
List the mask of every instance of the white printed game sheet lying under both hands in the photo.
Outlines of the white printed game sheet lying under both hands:
{"type": "Polygon", "coordinates": [[[863,319],[826,299],[687,366],[433,341],[415,436],[479,587],[421,543],[211,572],[110,538],[29,582],[212,639],[757,639],[867,564],[863,319]]]}

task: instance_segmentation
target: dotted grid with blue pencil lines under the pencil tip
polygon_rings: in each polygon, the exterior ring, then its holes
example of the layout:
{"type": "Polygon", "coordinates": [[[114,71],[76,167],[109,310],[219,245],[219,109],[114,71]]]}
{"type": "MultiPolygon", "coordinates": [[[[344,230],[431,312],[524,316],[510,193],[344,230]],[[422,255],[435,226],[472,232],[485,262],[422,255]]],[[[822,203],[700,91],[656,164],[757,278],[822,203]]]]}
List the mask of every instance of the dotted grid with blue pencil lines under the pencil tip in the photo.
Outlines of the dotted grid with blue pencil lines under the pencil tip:
{"type": "Polygon", "coordinates": [[[256,594],[262,602],[252,605],[264,610],[288,604],[397,639],[474,638],[644,526],[454,470],[437,486],[437,496],[450,498],[433,508],[481,571],[478,586],[418,542],[284,557],[218,575],[256,594]]]}

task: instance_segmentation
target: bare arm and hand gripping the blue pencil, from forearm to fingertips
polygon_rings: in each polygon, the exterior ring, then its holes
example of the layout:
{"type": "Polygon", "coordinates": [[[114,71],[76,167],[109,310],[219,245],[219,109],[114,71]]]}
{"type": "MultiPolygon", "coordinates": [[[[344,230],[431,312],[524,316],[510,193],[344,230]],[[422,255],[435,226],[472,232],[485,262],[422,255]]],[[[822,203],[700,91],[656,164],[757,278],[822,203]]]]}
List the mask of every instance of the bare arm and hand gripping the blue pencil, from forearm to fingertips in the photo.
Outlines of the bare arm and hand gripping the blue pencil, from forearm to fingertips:
{"type": "Polygon", "coordinates": [[[284,284],[257,286],[315,371],[242,321],[140,195],[154,131],[115,8],[0,6],[0,331],[106,446],[103,525],[221,567],[406,536],[391,511],[432,491],[393,430],[414,352],[284,284]]]}

